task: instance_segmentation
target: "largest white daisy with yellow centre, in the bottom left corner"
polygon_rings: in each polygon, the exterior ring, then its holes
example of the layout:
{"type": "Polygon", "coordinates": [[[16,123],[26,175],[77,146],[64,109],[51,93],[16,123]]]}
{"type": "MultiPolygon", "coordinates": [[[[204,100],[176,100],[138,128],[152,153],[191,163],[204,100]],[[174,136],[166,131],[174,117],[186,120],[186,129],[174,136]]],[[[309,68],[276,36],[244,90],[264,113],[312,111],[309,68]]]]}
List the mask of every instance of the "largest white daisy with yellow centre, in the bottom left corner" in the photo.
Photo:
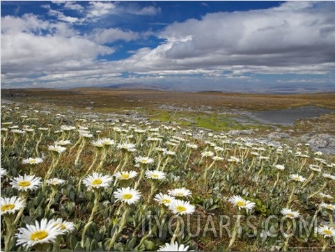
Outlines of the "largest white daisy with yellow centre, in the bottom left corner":
{"type": "Polygon", "coordinates": [[[26,225],[26,228],[19,228],[16,245],[30,248],[36,244],[52,243],[56,237],[62,235],[63,231],[59,225],[55,226],[54,220],[42,219],[40,223],[35,221],[35,225],[26,225]]]}

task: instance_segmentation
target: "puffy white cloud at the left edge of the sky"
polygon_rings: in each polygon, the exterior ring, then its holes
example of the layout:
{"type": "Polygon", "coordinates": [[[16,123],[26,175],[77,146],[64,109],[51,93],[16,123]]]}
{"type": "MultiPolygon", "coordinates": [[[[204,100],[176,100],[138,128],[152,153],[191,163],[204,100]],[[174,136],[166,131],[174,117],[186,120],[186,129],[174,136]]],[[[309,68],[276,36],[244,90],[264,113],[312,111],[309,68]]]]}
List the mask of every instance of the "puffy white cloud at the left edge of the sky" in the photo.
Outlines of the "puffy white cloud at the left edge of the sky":
{"type": "Polygon", "coordinates": [[[114,49],[88,40],[65,24],[42,21],[34,15],[1,17],[1,72],[36,74],[85,68],[98,55],[114,49]]]}

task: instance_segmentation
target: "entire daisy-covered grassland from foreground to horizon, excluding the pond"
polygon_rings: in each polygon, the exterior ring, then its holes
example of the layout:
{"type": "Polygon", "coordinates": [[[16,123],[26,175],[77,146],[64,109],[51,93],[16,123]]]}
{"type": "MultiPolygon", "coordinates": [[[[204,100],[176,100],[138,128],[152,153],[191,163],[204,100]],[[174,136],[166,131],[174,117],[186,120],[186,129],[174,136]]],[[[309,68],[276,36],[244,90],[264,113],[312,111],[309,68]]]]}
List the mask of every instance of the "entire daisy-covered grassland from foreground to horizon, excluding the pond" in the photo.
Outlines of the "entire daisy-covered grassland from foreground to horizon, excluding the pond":
{"type": "MultiPolygon", "coordinates": [[[[1,96],[1,250],[334,250],[334,155],[290,139],[228,134],[267,127],[217,113],[334,109],[334,94],[76,89],[1,96]],[[36,221],[47,223],[33,228],[36,221]]],[[[313,120],[332,124],[333,116],[313,120]]]]}

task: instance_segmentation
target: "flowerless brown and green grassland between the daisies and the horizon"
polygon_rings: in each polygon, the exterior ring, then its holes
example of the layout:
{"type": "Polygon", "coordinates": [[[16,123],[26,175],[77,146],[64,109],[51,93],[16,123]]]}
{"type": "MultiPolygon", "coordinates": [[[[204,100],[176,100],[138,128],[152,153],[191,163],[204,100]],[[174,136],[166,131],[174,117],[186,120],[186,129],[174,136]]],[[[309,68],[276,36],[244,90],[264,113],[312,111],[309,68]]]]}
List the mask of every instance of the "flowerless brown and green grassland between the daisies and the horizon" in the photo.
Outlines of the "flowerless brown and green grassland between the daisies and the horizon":
{"type": "MultiPolygon", "coordinates": [[[[111,88],[75,88],[71,90],[13,89],[2,90],[1,97],[36,104],[94,113],[140,113],[165,123],[205,129],[263,129],[259,123],[242,124],[236,111],[262,111],[302,106],[335,109],[335,93],[301,95],[267,95],[240,93],[180,93],[160,90],[115,90],[111,88]]],[[[335,120],[334,113],[323,117],[335,120]]],[[[318,123],[324,123],[322,118],[318,123]]],[[[312,125],[313,126],[313,125],[312,125]]],[[[319,127],[322,128],[322,127],[319,127]]],[[[334,128],[334,127],[333,127],[334,128]]],[[[311,130],[311,125],[303,129],[311,130]]],[[[320,129],[318,129],[320,130],[320,129]]],[[[325,132],[333,130],[325,127],[325,132]]]]}

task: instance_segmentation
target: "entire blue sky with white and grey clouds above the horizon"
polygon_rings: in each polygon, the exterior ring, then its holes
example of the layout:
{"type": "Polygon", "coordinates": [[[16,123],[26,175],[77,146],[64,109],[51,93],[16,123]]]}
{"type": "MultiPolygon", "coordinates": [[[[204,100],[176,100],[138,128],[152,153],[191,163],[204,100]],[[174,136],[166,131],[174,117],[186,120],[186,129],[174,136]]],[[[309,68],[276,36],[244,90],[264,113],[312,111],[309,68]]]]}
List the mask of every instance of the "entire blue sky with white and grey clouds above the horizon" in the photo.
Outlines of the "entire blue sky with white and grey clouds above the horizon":
{"type": "Polygon", "coordinates": [[[1,1],[1,88],[335,91],[334,1],[1,1]]]}

